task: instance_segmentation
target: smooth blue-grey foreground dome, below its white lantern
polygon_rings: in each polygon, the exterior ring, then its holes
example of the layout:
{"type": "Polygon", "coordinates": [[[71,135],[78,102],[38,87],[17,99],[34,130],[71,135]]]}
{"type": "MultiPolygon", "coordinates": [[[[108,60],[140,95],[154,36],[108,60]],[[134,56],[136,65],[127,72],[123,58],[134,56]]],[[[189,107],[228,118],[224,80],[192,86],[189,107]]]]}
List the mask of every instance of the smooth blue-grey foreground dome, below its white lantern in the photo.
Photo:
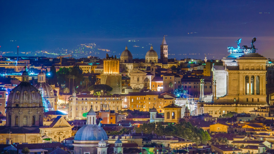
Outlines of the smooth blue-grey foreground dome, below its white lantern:
{"type": "Polygon", "coordinates": [[[108,140],[107,133],[98,125],[84,125],[74,137],[76,141],[100,141],[101,139],[108,140]]]}

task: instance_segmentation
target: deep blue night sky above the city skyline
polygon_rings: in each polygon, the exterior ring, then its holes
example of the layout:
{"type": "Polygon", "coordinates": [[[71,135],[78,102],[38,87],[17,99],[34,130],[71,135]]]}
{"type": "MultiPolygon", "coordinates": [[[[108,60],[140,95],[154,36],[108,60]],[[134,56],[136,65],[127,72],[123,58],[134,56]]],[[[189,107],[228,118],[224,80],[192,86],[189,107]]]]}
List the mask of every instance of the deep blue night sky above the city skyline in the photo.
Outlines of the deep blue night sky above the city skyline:
{"type": "Polygon", "coordinates": [[[17,45],[20,51],[36,51],[96,43],[121,53],[127,45],[134,58],[143,58],[152,44],[160,57],[167,35],[169,53],[175,54],[170,58],[187,57],[177,55],[181,53],[220,59],[228,54],[227,46],[237,46],[237,39],[242,38],[240,46],[251,46],[257,37],[257,52],[274,58],[273,7],[272,0],[0,0],[0,46],[1,51],[16,51],[17,45]],[[139,42],[129,43],[130,39],[139,42]]]}

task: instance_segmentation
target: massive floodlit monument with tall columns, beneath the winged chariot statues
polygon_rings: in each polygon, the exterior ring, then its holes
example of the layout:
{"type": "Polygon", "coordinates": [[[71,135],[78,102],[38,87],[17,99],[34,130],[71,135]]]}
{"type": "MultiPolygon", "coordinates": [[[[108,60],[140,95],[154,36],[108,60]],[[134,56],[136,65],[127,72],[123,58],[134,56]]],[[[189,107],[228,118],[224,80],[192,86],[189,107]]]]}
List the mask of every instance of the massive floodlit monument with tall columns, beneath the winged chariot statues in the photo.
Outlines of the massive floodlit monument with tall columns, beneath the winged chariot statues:
{"type": "Polygon", "coordinates": [[[208,95],[204,113],[214,117],[228,112],[249,113],[266,102],[266,61],[258,53],[231,53],[223,58],[223,66],[213,65],[216,92],[208,95]],[[209,100],[210,99],[210,100],[209,100]]]}

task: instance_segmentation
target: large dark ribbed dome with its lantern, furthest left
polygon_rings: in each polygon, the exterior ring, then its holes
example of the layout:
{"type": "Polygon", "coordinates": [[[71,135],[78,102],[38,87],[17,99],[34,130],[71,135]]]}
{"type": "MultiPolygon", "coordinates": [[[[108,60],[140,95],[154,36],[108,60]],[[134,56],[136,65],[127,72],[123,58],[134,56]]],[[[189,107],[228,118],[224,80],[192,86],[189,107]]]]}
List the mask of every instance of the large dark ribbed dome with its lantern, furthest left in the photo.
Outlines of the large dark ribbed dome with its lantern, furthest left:
{"type": "MultiPolygon", "coordinates": [[[[22,107],[22,108],[30,107],[30,105],[28,105],[30,103],[42,104],[42,97],[41,97],[40,91],[36,87],[30,84],[28,77],[29,75],[25,69],[25,71],[22,73],[22,82],[18,86],[14,87],[9,94],[7,107],[13,107],[12,104],[15,104],[15,103],[23,104],[20,106],[19,105],[15,106],[15,107],[22,107]],[[25,103],[28,103],[28,104],[25,104],[25,103]]],[[[35,104],[34,106],[40,107],[37,104],[35,104]]]]}

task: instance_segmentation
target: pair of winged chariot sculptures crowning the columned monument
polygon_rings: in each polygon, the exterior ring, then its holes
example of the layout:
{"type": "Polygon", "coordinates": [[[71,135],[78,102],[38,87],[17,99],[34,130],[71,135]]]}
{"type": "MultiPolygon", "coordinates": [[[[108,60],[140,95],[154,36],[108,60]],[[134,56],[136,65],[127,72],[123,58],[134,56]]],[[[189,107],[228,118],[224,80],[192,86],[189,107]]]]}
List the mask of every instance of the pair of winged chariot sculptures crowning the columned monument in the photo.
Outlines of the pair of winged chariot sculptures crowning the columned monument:
{"type": "Polygon", "coordinates": [[[257,37],[254,37],[251,40],[251,47],[248,46],[242,46],[243,49],[240,49],[240,43],[242,39],[238,39],[238,41],[235,41],[237,43],[237,48],[234,48],[233,46],[228,46],[228,52],[229,53],[256,53],[255,46],[253,45],[253,43],[256,41],[257,37]]]}

